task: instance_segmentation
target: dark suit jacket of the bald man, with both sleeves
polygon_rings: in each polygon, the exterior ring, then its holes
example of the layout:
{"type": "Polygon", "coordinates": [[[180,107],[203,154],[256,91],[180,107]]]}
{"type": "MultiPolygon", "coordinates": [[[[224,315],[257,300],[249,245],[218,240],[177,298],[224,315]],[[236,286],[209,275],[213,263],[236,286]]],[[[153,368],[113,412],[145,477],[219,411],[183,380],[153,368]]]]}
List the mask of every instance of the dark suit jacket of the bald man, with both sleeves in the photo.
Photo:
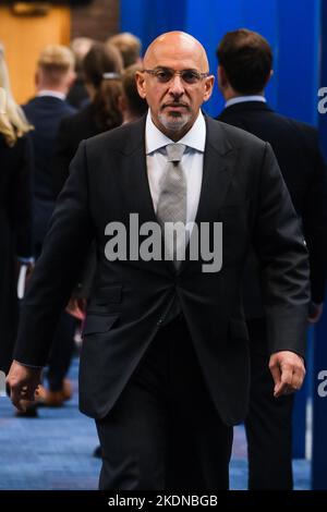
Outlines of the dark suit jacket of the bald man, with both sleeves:
{"type": "Polygon", "coordinates": [[[246,411],[249,343],[241,278],[252,240],[263,263],[271,352],[304,354],[307,253],[272,150],[243,131],[206,119],[196,222],[223,223],[223,263],[116,260],[105,255],[110,221],[156,221],[146,172],[145,120],[84,141],[58,199],[22,309],[17,361],[45,365],[58,314],[92,240],[97,272],[88,301],[80,367],[80,406],[104,417],[113,406],[177,296],[208,388],[231,425],[246,411]]]}

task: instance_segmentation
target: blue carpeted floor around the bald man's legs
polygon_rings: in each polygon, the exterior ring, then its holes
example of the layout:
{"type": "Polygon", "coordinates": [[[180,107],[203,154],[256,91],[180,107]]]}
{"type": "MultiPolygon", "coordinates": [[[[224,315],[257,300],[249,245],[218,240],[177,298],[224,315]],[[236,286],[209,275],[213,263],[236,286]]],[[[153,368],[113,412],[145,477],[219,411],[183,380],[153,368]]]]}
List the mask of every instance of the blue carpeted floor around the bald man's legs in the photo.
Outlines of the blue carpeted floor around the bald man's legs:
{"type": "MultiPolygon", "coordinates": [[[[0,489],[96,489],[100,461],[94,422],[77,410],[77,361],[70,378],[72,400],[63,407],[40,407],[38,418],[16,418],[8,398],[0,398],[0,489]]],[[[310,463],[293,462],[295,489],[310,489],[310,463]]],[[[246,444],[234,429],[231,488],[246,489],[246,444]]]]}

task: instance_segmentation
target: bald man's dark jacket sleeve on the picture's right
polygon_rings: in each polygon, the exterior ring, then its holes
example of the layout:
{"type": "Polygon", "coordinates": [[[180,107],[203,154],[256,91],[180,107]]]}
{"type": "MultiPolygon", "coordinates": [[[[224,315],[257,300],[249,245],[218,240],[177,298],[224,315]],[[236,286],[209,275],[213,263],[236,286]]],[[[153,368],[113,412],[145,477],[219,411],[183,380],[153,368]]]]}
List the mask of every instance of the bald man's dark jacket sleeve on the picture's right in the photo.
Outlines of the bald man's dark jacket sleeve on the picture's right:
{"type": "Polygon", "coordinates": [[[259,258],[270,353],[305,355],[308,256],[300,221],[274,151],[265,145],[253,244],[259,258]]]}

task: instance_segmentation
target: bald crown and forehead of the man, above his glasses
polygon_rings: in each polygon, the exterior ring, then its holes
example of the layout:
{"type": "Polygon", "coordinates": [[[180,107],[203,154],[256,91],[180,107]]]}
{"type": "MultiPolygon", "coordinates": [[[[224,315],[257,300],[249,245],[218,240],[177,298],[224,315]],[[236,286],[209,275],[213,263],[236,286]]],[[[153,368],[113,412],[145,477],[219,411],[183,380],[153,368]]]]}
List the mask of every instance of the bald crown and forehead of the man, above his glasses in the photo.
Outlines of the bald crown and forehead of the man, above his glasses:
{"type": "Polygon", "coordinates": [[[195,37],[184,32],[168,32],[157,37],[147,48],[144,56],[144,68],[152,69],[162,64],[162,59],[167,60],[165,65],[169,66],[169,60],[183,62],[183,68],[194,68],[206,73],[209,71],[209,63],[206,51],[195,37]],[[192,60],[193,65],[189,66],[187,61],[192,60]]]}

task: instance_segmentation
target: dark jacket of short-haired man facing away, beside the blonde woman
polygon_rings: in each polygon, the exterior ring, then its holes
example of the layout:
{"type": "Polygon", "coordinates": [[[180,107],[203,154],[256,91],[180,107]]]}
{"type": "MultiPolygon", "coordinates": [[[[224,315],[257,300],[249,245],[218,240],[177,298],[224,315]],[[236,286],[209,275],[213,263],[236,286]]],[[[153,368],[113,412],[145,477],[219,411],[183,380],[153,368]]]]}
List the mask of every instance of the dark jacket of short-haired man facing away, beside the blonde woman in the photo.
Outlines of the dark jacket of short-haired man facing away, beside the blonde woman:
{"type": "Polygon", "coordinates": [[[35,153],[33,176],[34,236],[40,247],[55,208],[52,166],[55,141],[59,123],[75,112],[66,101],[52,96],[37,96],[24,107],[28,121],[34,125],[32,141],[35,153]]]}

